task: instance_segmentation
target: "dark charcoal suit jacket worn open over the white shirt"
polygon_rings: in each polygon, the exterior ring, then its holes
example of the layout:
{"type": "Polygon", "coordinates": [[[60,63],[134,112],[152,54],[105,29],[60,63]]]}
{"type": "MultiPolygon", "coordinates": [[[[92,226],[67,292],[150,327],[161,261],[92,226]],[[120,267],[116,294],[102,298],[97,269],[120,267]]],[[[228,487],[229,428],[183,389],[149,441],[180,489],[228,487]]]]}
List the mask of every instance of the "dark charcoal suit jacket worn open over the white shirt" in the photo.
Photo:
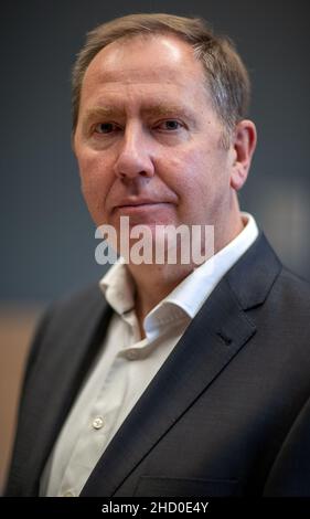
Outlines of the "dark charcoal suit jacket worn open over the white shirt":
{"type": "MultiPolygon", "coordinates": [[[[38,495],[110,315],[98,287],[46,314],[28,363],[7,495],[38,495]]],[[[259,235],[188,327],[82,496],[310,495],[306,464],[281,486],[284,452],[310,395],[309,330],[309,285],[259,235]]]]}

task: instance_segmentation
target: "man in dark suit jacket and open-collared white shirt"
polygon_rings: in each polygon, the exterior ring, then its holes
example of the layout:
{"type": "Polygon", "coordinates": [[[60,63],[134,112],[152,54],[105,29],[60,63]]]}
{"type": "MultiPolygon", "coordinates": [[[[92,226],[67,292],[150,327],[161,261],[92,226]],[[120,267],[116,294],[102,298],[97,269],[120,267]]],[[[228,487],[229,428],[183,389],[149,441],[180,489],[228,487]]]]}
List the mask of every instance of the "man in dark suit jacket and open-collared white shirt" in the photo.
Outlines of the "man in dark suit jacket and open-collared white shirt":
{"type": "Polygon", "coordinates": [[[214,257],[118,262],[50,309],[8,495],[281,495],[277,462],[310,394],[310,292],[239,211],[248,97],[240,57],[201,20],[137,14],[89,33],[73,148],[96,225],[121,237],[127,216],[154,244],[159,225],[212,225],[214,257]]]}

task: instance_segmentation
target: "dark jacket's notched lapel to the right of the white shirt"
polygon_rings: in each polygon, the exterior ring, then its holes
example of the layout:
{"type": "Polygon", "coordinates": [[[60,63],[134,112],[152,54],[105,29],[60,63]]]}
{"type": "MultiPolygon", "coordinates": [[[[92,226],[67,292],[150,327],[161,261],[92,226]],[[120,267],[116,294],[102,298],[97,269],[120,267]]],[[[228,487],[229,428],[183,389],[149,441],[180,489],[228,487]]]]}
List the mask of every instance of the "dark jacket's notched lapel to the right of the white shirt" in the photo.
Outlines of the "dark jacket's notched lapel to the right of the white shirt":
{"type": "Polygon", "coordinates": [[[193,319],[99,459],[82,496],[113,496],[225,369],[256,331],[244,309],[265,300],[279,268],[259,236],[193,319]]]}

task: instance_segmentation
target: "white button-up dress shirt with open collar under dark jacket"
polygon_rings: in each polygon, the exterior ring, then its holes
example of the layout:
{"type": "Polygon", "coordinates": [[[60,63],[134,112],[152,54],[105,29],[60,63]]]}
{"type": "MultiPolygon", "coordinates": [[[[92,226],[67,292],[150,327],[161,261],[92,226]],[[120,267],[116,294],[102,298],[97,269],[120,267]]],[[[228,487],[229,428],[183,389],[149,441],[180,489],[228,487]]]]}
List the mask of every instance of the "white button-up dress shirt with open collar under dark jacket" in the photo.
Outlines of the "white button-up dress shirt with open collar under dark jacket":
{"type": "Polygon", "coordinates": [[[175,347],[225,273],[258,235],[243,213],[244,230],[195,268],[145,318],[141,339],[133,308],[135,287],[124,263],[100,280],[115,313],[97,362],[85,381],[41,478],[42,496],[78,496],[126,416],[175,347]]]}

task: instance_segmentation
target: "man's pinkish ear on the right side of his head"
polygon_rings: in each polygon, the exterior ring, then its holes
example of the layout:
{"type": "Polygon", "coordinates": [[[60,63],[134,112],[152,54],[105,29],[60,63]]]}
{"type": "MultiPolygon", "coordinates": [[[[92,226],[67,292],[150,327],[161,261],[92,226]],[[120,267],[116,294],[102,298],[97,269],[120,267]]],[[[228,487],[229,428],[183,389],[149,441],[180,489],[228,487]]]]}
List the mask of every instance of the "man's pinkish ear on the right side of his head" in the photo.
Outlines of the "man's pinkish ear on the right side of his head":
{"type": "Polygon", "coordinates": [[[256,148],[256,127],[252,120],[243,119],[235,128],[232,138],[232,173],[231,187],[238,191],[244,186],[256,148]]]}

